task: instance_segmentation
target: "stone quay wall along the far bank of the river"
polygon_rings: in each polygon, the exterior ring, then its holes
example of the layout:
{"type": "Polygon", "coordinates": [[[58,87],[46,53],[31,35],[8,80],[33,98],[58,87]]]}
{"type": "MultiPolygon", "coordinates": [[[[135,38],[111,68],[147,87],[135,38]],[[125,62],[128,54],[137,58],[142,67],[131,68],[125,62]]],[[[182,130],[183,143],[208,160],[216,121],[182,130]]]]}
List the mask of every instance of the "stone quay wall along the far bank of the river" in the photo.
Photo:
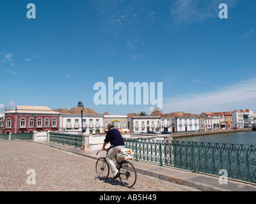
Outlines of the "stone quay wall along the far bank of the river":
{"type": "Polygon", "coordinates": [[[218,130],[212,130],[212,131],[193,132],[193,133],[174,133],[172,134],[172,137],[183,138],[183,137],[191,137],[191,136],[216,135],[216,134],[237,133],[237,132],[245,132],[245,131],[252,131],[252,128],[218,129],[218,130]]]}

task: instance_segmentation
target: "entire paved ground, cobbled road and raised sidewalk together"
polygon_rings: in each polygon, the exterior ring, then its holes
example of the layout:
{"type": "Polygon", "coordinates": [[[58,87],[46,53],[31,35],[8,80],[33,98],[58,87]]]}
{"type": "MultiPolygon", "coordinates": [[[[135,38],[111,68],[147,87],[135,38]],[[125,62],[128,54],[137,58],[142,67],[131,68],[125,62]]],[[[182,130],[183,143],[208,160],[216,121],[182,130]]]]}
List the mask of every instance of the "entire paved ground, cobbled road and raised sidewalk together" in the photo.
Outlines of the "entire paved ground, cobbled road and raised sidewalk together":
{"type": "MultiPolygon", "coordinates": [[[[135,161],[133,164],[138,172],[138,180],[132,189],[127,189],[118,180],[109,178],[104,182],[97,179],[95,162],[99,155],[96,156],[96,151],[84,151],[50,142],[2,140],[0,146],[1,177],[6,178],[1,181],[0,191],[256,191],[253,184],[230,179],[227,184],[220,184],[219,178],[211,175],[135,161]],[[54,149],[55,152],[52,152],[54,149]],[[20,173],[18,169],[12,172],[13,168],[19,168],[15,165],[20,163],[24,164],[24,169],[35,169],[36,180],[40,182],[36,182],[36,185],[23,182],[12,186],[12,181],[20,173]],[[12,187],[8,187],[10,185],[12,187]]],[[[23,173],[22,177],[26,179],[28,175],[23,173]]]]}

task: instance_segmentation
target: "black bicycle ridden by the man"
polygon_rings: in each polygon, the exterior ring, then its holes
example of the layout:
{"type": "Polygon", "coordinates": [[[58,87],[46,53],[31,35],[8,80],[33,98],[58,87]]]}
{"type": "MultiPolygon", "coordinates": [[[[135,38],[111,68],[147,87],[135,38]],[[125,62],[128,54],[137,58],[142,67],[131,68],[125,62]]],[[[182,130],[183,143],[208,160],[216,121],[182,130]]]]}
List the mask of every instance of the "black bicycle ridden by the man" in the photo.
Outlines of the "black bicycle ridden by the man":
{"type": "MultiPolygon", "coordinates": [[[[102,151],[98,150],[97,154],[102,151]]],[[[108,152],[106,153],[106,157],[108,152]]],[[[109,176],[109,164],[106,161],[106,157],[99,157],[96,162],[96,173],[100,180],[106,180],[109,176]]],[[[119,179],[123,186],[131,188],[134,186],[137,180],[137,173],[134,166],[129,161],[116,161],[117,169],[119,171],[119,179]]]]}

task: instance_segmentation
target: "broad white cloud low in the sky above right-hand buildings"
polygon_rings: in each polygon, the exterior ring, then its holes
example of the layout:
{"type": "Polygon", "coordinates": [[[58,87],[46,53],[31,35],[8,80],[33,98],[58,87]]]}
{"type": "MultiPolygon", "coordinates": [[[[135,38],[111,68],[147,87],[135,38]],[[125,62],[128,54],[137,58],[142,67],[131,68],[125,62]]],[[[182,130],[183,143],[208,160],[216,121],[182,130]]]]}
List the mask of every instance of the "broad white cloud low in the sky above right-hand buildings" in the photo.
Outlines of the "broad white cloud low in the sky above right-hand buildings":
{"type": "Polygon", "coordinates": [[[163,111],[211,112],[252,108],[256,111],[256,78],[223,87],[218,91],[164,99],[163,111]],[[246,107],[244,107],[246,106],[246,107]]]}

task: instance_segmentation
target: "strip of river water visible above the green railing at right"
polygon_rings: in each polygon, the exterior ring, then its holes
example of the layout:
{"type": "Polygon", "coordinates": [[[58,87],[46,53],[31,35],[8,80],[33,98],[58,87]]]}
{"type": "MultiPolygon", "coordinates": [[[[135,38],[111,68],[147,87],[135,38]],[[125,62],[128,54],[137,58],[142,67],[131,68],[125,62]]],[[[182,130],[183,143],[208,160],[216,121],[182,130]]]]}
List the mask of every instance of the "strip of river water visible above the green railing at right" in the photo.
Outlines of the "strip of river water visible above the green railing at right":
{"type": "Polygon", "coordinates": [[[189,136],[184,138],[173,138],[173,141],[226,143],[233,145],[256,145],[256,131],[189,136]]]}

